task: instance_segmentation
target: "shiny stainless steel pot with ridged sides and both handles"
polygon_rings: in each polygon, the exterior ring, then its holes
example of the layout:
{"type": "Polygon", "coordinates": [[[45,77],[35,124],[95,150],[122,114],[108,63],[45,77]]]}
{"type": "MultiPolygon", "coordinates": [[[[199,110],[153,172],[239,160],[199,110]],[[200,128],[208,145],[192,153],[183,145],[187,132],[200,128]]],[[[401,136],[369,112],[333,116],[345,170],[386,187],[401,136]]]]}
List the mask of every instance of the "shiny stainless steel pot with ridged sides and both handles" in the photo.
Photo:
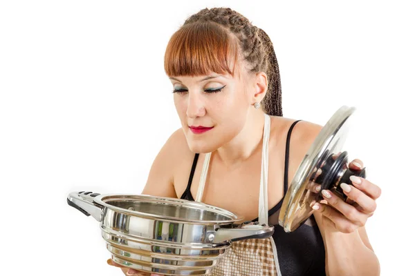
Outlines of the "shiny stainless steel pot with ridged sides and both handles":
{"type": "Polygon", "coordinates": [[[208,275],[233,241],[273,235],[274,227],[208,204],[149,195],[75,192],[68,204],[100,221],[114,262],[163,275],[208,275]]]}

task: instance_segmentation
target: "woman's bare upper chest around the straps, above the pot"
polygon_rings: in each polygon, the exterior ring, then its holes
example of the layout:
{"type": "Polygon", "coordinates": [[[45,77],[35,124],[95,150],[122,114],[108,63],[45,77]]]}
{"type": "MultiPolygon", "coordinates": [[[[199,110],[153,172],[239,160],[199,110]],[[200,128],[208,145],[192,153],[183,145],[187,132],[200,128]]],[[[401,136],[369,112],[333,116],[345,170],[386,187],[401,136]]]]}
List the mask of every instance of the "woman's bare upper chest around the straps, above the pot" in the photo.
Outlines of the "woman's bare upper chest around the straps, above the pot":
{"type": "MultiPolygon", "coordinates": [[[[277,148],[270,148],[270,152],[274,154],[268,157],[268,210],[277,205],[284,197],[285,155],[277,148]]],[[[204,161],[205,155],[199,155],[190,186],[190,193],[194,199],[196,199],[199,188],[204,161]]],[[[187,187],[192,162],[185,167],[181,170],[183,173],[180,173],[175,179],[178,197],[181,197],[187,187]]],[[[291,181],[292,175],[293,172],[288,170],[289,181],[291,181]]],[[[261,152],[231,168],[223,166],[217,160],[215,162],[214,155],[212,155],[201,201],[242,215],[245,220],[255,219],[258,217],[260,181],[261,152]]]]}

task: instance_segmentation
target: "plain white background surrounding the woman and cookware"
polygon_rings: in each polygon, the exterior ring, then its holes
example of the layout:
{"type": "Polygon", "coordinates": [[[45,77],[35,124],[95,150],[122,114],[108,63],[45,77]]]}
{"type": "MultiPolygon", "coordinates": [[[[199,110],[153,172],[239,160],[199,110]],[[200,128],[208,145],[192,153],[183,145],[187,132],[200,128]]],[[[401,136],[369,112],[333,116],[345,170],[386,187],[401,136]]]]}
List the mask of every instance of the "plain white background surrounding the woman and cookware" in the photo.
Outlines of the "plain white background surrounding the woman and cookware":
{"type": "Polygon", "coordinates": [[[141,192],[180,127],[167,41],[214,6],[272,39],[285,117],[324,125],[340,106],[358,108],[344,150],[382,188],[369,238],[382,275],[413,273],[409,2],[1,1],[0,274],[122,275],[106,263],[98,222],[66,195],[141,192]]]}

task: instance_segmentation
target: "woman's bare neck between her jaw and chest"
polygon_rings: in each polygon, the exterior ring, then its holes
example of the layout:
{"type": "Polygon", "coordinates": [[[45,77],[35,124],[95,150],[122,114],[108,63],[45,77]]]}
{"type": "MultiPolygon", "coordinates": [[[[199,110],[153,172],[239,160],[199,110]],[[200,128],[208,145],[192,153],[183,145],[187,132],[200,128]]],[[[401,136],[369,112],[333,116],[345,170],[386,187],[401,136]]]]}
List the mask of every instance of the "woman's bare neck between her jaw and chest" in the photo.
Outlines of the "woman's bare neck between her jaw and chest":
{"type": "Polygon", "coordinates": [[[264,112],[252,110],[248,115],[245,126],[228,144],[216,150],[216,155],[227,167],[239,166],[241,162],[248,159],[259,148],[261,148],[264,135],[264,112]]]}

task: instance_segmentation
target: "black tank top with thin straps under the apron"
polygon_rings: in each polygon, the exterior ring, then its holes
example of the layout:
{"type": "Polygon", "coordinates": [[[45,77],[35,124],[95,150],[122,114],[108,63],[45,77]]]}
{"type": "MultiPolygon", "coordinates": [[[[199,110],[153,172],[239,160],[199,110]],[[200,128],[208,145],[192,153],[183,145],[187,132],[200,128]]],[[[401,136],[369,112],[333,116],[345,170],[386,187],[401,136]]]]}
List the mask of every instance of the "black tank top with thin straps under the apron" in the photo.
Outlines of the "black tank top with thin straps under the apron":
{"type": "MultiPolygon", "coordinates": [[[[284,167],[284,197],[288,190],[288,160],[291,132],[297,122],[295,121],[288,130],[286,141],[286,155],[284,167]]],[[[187,188],[181,199],[194,201],[190,186],[192,185],[194,170],[196,168],[199,153],[194,155],[192,170],[190,171],[187,188]]],[[[282,206],[284,197],[268,210],[268,223],[275,226],[273,239],[277,247],[279,268],[282,276],[301,276],[301,275],[326,275],[325,272],[325,250],[322,235],[315,222],[313,215],[299,226],[295,231],[286,233],[282,226],[278,224],[279,210],[282,206]]],[[[257,221],[258,218],[253,221],[257,221]]]]}

